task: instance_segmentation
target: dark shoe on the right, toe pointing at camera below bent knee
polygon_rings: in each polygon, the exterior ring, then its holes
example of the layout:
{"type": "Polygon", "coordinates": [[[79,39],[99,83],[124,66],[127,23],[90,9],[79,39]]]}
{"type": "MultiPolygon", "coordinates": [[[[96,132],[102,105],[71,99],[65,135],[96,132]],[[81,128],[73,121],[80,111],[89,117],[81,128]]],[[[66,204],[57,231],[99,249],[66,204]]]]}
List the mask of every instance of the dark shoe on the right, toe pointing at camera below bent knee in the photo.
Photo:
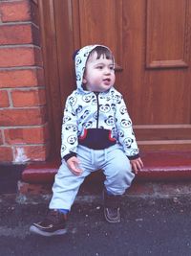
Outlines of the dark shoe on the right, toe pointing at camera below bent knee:
{"type": "Polygon", "coordinates": [[[106,221],[111,223],[116,223],[120,221],[120,198],[120,196],[110,196],[106,193],[106,191],[103,191],[104,216],[106,221]]]}

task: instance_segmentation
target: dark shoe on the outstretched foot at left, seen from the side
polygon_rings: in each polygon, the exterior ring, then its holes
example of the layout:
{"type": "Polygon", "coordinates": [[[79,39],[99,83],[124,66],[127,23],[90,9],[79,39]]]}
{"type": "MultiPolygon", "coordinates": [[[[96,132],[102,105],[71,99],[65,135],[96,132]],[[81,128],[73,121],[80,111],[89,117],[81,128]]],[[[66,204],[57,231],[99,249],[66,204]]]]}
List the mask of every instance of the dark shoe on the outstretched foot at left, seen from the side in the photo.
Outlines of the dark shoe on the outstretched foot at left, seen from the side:
{"type": "Polygon", "coordinates": [[[44,221],[32,224],[30,231],[45,237],[63,235],[67,232],[66,215],[57,210],[50,210],[44,221]]]}

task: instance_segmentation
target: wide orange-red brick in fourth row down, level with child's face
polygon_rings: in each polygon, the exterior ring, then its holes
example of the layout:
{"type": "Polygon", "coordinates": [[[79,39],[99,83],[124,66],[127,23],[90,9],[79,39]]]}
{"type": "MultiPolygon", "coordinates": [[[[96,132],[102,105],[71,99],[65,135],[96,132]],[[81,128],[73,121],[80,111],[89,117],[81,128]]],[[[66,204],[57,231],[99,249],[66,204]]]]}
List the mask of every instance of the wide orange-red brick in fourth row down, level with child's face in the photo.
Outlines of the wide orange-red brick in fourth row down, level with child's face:
{"type": "Polygon", "coordinates": [[[0,71],[0,88],[32,87],[44,84],[41,68],[0,71]]]}

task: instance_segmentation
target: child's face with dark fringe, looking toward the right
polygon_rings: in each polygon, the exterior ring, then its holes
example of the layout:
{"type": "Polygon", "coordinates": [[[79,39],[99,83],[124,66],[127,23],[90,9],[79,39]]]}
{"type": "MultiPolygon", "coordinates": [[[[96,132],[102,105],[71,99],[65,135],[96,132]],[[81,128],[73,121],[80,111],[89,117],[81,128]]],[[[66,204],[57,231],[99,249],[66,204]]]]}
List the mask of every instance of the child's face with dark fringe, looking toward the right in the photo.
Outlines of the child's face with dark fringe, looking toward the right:
{"type": "Polygon", "coordinates": [[[116,81],[114,61],[104,56],[96,57],[95,52],[88,59],[83,83],[89,91],[103,92],[110,89],[116,81]]]}

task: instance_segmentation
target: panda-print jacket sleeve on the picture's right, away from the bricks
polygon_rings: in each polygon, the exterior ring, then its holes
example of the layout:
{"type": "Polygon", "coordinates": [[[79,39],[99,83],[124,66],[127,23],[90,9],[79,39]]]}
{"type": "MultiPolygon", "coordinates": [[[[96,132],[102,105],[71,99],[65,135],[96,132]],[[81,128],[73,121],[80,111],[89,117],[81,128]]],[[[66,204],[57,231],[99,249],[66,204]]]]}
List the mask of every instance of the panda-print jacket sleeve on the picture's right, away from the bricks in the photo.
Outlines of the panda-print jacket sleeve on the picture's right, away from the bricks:
{"type": "Polygon", "coordinates": [[[133,131],[132,121],[121,94],[118,94],[116,107],[118,141],[122,145],[127,157],[130,160],[136,159],[139,157],[138,145],[133,131]]]}

